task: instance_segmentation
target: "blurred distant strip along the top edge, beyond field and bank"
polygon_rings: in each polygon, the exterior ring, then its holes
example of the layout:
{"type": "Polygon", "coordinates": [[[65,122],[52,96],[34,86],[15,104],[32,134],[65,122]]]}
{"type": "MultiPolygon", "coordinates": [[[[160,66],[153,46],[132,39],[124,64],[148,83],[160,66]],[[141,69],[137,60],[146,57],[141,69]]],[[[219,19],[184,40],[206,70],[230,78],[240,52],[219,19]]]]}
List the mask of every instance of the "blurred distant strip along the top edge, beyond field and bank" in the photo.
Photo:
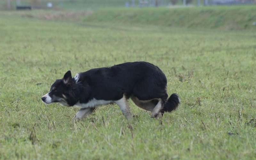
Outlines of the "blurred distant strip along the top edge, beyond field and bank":
{"type": "Polygon", "coordinates": [[[256,0],[1,0],[1,9],[97,9],[103,7],[182,7],[255,4],[256,0]]]}

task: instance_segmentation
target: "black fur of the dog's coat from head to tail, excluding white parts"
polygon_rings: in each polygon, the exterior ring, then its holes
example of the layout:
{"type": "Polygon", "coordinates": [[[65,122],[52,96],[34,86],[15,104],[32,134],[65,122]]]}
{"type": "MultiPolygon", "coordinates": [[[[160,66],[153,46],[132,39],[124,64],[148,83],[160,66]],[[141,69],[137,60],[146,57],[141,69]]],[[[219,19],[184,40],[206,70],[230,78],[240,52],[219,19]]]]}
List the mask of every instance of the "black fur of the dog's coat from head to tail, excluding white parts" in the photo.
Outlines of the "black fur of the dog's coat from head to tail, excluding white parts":
{"type": "MultiPolygon", "coordinates": [[[[164,106],[161,113],[171,112],[178,107],[180,101],[177,94],[172,94],[167,100],[167,80],[157,66],[148,62],[127,62],[108,68],[94,68],[72,78],[68,71],[61,80],[52,84],[51,96],[59,97],[68,105],[77,102],[87,103],[89,100],[120,100],[123,95],[139,100],[152,100],[157,103],[161,99],[164,106]],[[55,87],[57,91],[52,91],[55,87]],[[63,96],[63,95],[64,96],[63,96]]],[[[58,100],[56,100],[58,101],[58,100]]]]}

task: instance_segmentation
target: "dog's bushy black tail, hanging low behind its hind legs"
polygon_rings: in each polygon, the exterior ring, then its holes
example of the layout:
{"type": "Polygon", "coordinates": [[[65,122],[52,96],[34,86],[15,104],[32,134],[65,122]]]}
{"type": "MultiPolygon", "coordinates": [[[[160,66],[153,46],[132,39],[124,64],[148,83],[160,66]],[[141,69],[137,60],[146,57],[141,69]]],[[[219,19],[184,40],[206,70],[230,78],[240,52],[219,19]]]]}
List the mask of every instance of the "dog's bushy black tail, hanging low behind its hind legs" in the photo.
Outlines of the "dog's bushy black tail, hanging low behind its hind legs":
{"type": "Polygon", "coordinates": [[[173,93],[167,100],[167,102],[164,104],[164,107],[162,109],[162,114],[164,112],[172,112],[175,110],[180,104],[180,98],[179,95],[176,93],[173,93]]]}

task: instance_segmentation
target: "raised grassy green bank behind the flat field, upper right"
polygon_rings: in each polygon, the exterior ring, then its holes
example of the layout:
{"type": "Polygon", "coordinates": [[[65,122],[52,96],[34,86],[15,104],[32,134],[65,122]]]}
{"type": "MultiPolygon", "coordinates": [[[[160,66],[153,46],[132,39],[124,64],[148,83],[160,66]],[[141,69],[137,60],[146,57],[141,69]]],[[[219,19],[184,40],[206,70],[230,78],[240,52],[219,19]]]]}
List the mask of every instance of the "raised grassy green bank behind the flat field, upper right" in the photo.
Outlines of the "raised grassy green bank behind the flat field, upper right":
{"type": "Polygon", "coordinates": [[[208,6],[190,8],[112,8],[84,21],[129,23],[182,28],[255,30],[256,5],[208,6]]]}

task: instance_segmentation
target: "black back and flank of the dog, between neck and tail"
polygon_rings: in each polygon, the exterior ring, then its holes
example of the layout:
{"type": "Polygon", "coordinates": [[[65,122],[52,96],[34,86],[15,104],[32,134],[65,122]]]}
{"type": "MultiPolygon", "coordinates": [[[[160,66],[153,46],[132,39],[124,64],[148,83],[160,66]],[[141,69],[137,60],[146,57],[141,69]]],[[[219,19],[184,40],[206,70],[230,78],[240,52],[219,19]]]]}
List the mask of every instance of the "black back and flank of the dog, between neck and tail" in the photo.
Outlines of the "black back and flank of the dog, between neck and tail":
{"type": "Polygon", "coordinates": [[[109,68],[94,68],[79,73],[77,82],[88,83],[93,90],[104,91],[106,94],[115,91],[125,93],[127,98],[134,94],[142,100],[162,97],[163,95],[156,96],[155,93],[161,90],[165,94],[167,84],[164,73],[148,62],[127,62],[109,68]],[[143,97],[149,92],[153,95],[143,97]]]}

